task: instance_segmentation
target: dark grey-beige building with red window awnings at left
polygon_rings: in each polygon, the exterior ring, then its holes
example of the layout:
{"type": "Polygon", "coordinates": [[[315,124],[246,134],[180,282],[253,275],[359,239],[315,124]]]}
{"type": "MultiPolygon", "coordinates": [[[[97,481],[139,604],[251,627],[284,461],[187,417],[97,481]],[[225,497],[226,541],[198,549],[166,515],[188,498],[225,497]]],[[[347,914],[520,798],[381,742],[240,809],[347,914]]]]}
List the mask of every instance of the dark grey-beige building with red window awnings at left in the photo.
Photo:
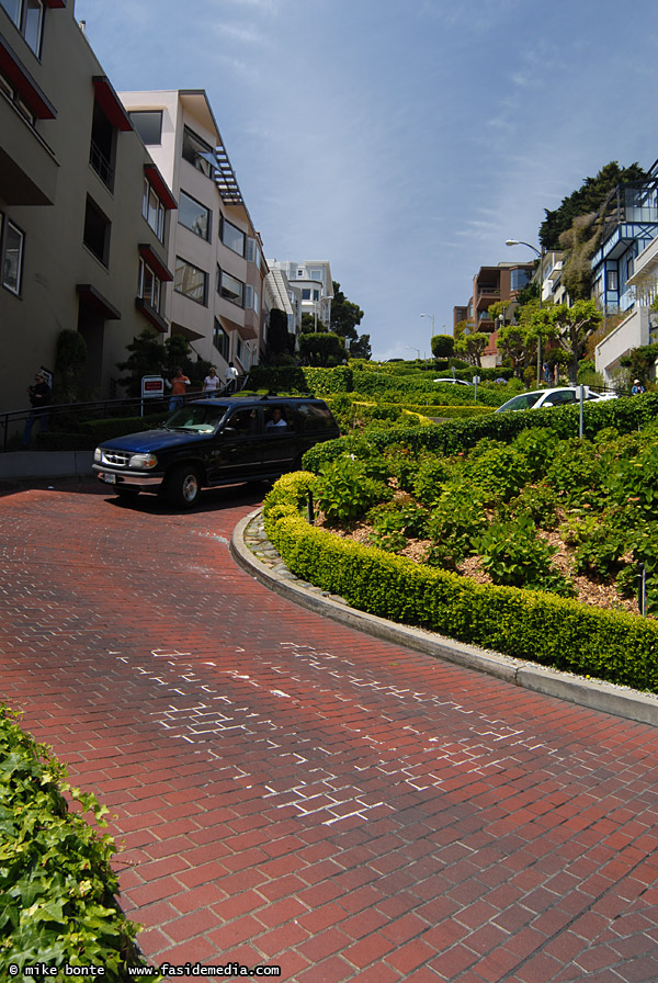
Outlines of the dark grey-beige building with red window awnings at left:
{"type": "Polygon", "coordinates": [[[0,408],[27,404],[63,329],[87,342],[89,396],[113,396],[126,344],[169,330],[177,202],[70,0],[0,0],[0,408]]]}

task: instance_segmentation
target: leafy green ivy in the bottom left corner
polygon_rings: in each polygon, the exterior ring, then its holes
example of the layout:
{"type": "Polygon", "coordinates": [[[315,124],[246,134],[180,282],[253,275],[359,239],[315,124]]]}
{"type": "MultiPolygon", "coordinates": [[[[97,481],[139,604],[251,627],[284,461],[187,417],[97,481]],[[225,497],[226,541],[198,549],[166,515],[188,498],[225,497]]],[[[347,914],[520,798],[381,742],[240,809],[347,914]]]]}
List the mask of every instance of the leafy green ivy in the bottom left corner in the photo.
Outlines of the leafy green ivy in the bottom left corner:
{"type": "Polygon", "coordinates": [[[145,962],[137,926],[115,900],[114,840],[69,812],[63,793],[99,826],[107,810],[65,779],[64,766],[0,704],[0,979],[12,963],[22,978],[44,962],[101,965],[104,980],[123,981],[127,967],[145,962]]]}

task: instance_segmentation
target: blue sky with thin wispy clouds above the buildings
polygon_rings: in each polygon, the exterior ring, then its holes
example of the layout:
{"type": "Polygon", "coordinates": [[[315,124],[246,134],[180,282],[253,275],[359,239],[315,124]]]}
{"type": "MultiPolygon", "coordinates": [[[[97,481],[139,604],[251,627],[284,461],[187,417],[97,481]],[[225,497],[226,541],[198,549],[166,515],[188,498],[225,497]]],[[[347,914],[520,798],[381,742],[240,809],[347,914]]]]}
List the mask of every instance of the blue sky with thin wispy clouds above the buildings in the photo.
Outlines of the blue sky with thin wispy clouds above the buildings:
{"type": "Polygon", "coordinates": [[[205,89],[268,259],[429,355],[546,208],[658,158],[656,0],[76,0],[114,88],[205,89]],[[423,317],[422,315],[429,315],[423,317]]]}

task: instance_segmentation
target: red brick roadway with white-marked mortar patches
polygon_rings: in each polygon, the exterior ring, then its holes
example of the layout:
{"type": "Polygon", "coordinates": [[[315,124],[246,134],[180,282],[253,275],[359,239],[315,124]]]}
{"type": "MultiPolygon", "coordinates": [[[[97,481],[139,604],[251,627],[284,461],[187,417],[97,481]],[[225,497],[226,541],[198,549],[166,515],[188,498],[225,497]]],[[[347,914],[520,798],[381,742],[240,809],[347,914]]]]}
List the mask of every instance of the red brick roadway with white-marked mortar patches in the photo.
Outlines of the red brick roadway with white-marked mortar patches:
{"type": "Polygon", "coordinates": [[[98,793],[156,962],[658,979],[658,732],[381,643],[231,561],[256,499],[0,498],[0,692],[98,793]]]}

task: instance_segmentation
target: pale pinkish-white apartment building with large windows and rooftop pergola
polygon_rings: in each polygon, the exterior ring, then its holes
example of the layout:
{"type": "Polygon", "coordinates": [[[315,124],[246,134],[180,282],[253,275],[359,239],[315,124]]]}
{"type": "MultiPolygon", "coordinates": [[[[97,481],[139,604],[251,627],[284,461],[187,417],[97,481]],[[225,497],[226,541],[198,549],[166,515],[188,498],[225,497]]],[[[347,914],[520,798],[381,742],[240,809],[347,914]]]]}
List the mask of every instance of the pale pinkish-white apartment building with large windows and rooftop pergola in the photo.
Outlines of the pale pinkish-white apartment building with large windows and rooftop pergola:
{"type": "Polygon", "coordinates": [[[268,315],[262,244],[203,89],[121,92],[178,201],[169,239],[171,332],[213,362],[256,364],[268,315]]]}

